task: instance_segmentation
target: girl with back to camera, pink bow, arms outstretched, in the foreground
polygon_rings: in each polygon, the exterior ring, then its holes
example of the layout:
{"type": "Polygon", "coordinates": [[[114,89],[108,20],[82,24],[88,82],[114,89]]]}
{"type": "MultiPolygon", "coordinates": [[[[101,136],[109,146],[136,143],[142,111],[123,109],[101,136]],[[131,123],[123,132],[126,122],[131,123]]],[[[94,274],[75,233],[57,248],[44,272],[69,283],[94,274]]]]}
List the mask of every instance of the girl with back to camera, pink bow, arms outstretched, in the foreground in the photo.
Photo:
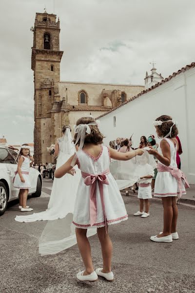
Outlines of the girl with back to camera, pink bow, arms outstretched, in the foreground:
{"type": "Polygon", "coordinates": [[[130,160],[144,151],[137,149],[126,153],[117,152],[113,148],[102,146],[103,135],[92,117],[78,119],[75,128],[75,145],[79,145],[76,155],[73,155],[55,172],[60,178],[72,169],[75,164],[81,170],[78,186],[73,224],[76,227],[78,248],[80,250],[85,271],[78,272],[80,281],[96,281],[98,275],[113,281],[111,270],[112,242],[108,234],[108,226],[127,220],[128,215],[119,189],[109,171],[110,158],[130,160]],[[98,238],[101,243],[103,268],[94,271],[91,247],[87,239],[87,229],[98,228],[98,238]]]}

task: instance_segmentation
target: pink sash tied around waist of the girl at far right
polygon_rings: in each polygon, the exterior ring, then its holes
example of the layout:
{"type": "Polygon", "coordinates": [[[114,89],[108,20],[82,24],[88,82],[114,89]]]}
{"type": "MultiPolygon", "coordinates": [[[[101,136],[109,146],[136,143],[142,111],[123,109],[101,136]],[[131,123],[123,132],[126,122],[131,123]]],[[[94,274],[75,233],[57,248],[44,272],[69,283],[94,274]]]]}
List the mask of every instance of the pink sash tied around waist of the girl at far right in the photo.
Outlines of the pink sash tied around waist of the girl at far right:
{"type": "Polygon", "coordinates": [[[178,182],[178,188],[179,188],[179,198],[182,195],[182,184],[181,184],[182,181],[181,181],[181,179],[183,179],[185,182],[185,188],[190,188],[185,174],[180,169],[174,168],[171,166],[163,166],[158,163],[157,164],[157,171],[158,172],[170,172],[171,175],[176,178],[176,180],[178,182]]]}

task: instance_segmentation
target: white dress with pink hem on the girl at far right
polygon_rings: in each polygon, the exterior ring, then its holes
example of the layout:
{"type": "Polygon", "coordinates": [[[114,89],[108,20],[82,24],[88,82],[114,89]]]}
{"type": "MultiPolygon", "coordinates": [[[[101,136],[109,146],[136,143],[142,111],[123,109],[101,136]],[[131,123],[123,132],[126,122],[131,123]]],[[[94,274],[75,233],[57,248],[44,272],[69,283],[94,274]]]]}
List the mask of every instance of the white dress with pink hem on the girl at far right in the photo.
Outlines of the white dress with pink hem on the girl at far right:
{"type": "MultiPolygon", "coordinates": [[[[176,146],[174,143],[168,139],[164,138],[170,146],[171,150],[171,164],[170,167],[177,168],[176,164],[176,146]]],[[[158,153],[162,155],[161,147],[158,147],[158,153]]],[[[162,166],[162,163],[160,163],[162,166]]],[[[186,190],[182,181],[182,194],[186,194],[186,190]]],[[[177,196],[179,195],[178,181],[170,172],[158,172],[156,175],[155,181],[155,192],[154,195],[157,197],[166,197],[166,196],[177,196]]]]}

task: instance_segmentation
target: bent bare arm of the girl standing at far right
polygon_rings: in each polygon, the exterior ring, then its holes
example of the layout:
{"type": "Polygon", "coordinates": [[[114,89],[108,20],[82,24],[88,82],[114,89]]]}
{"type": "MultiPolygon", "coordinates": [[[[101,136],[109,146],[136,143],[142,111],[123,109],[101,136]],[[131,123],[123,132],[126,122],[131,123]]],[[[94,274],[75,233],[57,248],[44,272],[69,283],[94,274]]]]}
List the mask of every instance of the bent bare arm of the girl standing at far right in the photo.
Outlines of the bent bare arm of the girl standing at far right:
{"type": "Polygon", "coordinates": [[[169,144],[166,142],[166,140],[162,140],[160,142],[160,147],[162,149],[162,154],[160,155],[156,149],[154,149],[152,146],[149,146],[151,149],[148,150],[149,154],[155,155],[155,157],[165,166],[169,167],[171,164],[171,150],[169,144]]]}

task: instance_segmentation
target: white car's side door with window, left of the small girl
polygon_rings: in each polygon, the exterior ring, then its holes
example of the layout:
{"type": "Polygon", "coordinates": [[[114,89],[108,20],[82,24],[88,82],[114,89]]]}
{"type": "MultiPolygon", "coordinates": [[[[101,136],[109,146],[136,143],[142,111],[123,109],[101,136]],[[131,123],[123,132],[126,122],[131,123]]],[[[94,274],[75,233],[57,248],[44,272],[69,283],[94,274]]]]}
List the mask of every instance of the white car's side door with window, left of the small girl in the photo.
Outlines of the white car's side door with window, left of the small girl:
{"type": "Polygon", "coordinates": [[[17,164],[11,154],[8,152],[7,148],[0,147],[0,170],[3,172],[4,179],[7,181],[10,188],[10,196],[17,196],[19,190],[13,189],[13,179],[15,176],[15,171],[17,169],[17,164]]]}

